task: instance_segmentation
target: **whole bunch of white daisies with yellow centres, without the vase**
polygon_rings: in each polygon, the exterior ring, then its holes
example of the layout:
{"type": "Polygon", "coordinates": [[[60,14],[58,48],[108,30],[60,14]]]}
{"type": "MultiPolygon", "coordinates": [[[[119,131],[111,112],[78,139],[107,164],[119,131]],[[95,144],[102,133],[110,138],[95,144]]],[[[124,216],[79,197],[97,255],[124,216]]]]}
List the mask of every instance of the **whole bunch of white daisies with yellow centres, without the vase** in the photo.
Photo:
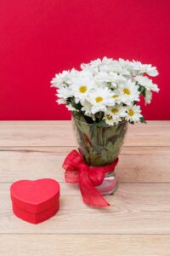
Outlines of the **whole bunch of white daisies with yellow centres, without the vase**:
{"type": "Polygon", "coordinates": [[[150,64],[104,57],[82,64],[81,70],[56,74],[51,84],[57,88],[57,102],[88,123],[133,124],[144,122],[138,102],[144,96],[150,103],[152,92],[159,91],[149,78],[157,75],[150,64]]]}

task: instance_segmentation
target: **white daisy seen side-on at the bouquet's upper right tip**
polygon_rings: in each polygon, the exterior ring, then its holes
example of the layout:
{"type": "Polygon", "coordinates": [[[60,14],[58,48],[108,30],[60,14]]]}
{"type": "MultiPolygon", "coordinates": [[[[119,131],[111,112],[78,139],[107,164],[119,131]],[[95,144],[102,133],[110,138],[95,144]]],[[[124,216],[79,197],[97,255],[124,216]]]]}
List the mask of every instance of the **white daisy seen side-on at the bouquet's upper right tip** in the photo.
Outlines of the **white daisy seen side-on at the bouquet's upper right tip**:
{"type": "Polygon", "coordinates": [[[151,77],[159,74],[156,67],[152,67],[151,64],[142,64],[140,61],[133,61],[133,69],[139,74],[147,73],[151,77]]]}

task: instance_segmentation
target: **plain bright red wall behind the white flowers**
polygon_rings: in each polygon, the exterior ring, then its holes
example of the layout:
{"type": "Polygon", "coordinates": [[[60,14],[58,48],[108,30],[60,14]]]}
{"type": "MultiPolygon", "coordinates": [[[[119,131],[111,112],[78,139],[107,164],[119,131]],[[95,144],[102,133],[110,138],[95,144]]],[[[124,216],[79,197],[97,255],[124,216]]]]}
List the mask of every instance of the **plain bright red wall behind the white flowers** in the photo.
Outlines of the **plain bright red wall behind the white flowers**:
{"type": "Polygon", "coordinates": [[[170,119],[166,0],[1,0],[0,119],[70,119],[50,80],[108,56],[152,63],[161,91],[145,119],[170,119]]]}

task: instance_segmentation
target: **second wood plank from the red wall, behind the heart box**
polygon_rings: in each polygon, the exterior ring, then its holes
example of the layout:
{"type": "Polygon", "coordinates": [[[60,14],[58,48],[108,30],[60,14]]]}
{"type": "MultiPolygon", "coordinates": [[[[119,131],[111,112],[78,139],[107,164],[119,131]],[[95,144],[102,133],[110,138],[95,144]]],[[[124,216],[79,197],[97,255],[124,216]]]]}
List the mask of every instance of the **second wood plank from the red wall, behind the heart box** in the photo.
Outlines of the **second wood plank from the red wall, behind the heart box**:
{"type": "MultiPolygon", "coordinates": [[[[62,163],[71,148],[0,148],[0,181],[57,178],[64,182],[62,163]]],[[[116,167],[119,182],[170,183],[170,148],[123,147],[116,167]]]]}

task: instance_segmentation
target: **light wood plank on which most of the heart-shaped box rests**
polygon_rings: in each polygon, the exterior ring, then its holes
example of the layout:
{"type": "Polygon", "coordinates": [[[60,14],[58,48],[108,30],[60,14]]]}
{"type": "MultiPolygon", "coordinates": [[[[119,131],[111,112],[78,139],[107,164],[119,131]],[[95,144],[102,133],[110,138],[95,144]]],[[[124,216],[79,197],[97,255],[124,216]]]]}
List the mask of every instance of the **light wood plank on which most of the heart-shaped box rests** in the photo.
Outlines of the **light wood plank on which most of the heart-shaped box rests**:
{"type": "Polygon", "coordinates": [[[11,210],[9,183],[0,183],[0,233],[165,234],[170,235],[170,186],[167,183],[122,183],[107,196],[111,207],[87,207],[77,185],[61,183],[60,210],[54,218],[34,225],[11,210]]]}

